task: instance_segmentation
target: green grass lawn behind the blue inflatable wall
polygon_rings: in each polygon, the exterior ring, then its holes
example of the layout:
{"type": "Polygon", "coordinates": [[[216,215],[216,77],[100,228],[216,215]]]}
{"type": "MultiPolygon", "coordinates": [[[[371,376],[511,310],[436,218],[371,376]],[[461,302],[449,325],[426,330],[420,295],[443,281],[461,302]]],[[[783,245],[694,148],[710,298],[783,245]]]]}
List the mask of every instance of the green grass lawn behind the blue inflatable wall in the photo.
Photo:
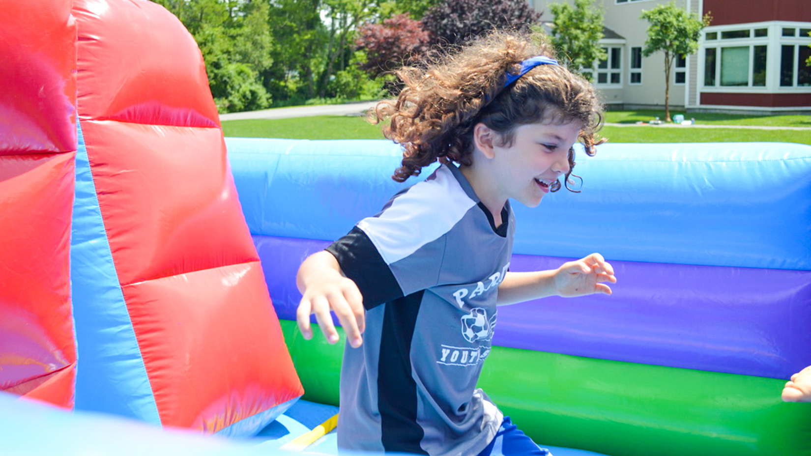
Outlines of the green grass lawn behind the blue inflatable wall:
{"type": "MultiPolygon", "coordinates": [[[[609,123],[636,123],[655,118],[658,111],[610,111],[609,123]],[[653,114],[653,115],[651,115],[653,114]]],[[[662,113],[658,113],[663,117],[662,113]]],[[[696,123],[715,125],[767,125],[770,127],[811,127],[811,116],[732,116],[729,114],[690,114],[696,123]],[[700,116],[700,117],[698,117],[700,116]],[[706,117],[705,117],[706,116],[706,117]],[[761,123],[754,123],[756,119],[761,123]]],[[[316,116],[282,119],[230,120],[222,123],[225,136],[251,138],[290,138],[308,140],[383,139],[380,126],[362,117],[316,116]]],[[[811,130],[758,130],[754,128],[698,128],[665,126],[603,127],[600,134],[613,143],[706,143],[772,141],[811,144],[811,130]]]]}

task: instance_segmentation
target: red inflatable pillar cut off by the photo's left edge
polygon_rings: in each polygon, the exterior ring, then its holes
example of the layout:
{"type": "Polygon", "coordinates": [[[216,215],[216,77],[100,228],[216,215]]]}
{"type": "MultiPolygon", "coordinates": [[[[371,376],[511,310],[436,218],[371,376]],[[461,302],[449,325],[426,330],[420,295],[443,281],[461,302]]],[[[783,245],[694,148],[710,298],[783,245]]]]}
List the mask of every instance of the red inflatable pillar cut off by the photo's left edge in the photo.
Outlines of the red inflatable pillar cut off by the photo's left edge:
{"type": "Polygon", "coordinates": [[[0,2],[0,390],[72,407],[71,2],[0,2]]]}

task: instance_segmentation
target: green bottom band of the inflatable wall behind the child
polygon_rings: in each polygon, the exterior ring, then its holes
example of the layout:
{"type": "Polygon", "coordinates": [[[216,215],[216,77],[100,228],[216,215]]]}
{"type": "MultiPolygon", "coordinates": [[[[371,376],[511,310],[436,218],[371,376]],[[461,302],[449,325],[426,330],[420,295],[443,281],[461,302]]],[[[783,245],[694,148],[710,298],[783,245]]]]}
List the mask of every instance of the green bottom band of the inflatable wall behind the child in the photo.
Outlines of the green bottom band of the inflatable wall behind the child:
{"type": "MultiPolygon", "coordinates": [[[[304,398],[337,405],[343,344],[318,329],[306,341],[294,321],[281,327],[304,398]]],[[[783,383],[493,346],[479,386],[547,445],[611,456],[809,455],[811,404],[782,402],[783,383]]]]}

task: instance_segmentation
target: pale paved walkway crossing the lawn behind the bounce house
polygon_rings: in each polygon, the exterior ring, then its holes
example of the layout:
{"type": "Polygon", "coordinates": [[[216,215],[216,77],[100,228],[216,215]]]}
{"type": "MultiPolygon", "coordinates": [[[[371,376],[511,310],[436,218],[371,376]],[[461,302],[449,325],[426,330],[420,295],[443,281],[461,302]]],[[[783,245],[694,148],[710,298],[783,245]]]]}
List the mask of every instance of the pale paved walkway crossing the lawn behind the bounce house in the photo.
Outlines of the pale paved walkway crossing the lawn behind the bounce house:
{"type": "MultiPolygon", "coordinates": [[[[274,108],[272,110],[246,111],[242,113],[220,114],[220,120],[244,120],[250,118],[291,118],[311,117],[315,115],[363,115],[377,101],[358,101],[344,105],[307,105],[291,106],[289,108],[274,108]]],[[[661,125],[637,125],[636,123],[606,123],[611,127],[651,127],[651,128],[757,128],[760,130],[811,130],[811,127],[772,127],[757,125],[680,125],[677,123],[663,123],[661,125]]]]}

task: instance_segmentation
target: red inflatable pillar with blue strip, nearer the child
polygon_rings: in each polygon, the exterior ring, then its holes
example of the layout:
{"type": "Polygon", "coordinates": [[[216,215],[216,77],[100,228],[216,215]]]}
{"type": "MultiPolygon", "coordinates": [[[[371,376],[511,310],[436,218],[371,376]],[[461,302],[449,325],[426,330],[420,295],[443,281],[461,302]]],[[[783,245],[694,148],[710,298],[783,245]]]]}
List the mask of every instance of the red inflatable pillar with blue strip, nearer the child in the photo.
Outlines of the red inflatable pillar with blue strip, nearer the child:
{"type": "Polygon", "coordinates": [[[250,435],[303,389],[203,58],[144,0],[74,0],[76,408],[250,435]]]}

